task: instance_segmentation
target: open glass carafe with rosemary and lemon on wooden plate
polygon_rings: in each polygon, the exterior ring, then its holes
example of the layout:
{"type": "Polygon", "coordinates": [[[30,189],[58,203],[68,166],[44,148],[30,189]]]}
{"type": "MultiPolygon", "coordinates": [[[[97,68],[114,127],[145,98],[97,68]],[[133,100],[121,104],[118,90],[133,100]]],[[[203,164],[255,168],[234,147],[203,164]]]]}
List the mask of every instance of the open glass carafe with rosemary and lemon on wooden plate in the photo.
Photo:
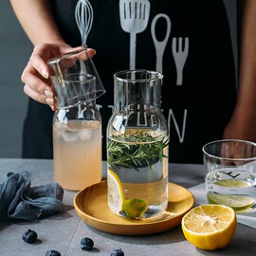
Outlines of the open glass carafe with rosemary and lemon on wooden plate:
{"type": "Polygon", "coordinates": [[[161,113],[163,76],[147,70],[114,75],[107,127],[108,206],[119,216],[149,218],[168,204],[168,128],[161,113]]]}

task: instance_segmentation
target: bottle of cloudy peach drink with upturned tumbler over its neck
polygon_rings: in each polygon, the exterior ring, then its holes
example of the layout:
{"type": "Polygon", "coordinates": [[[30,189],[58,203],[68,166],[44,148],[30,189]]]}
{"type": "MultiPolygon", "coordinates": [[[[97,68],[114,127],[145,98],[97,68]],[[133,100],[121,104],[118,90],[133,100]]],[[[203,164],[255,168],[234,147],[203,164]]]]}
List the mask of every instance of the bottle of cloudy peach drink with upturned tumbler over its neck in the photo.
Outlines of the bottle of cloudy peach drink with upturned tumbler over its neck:
{"type": "Polygon", "coordinates": [[[53,117],[54,179],[79,191],[101,181],[101,114],[104,93],[86,49],[48,61],[58,110],[53,117]]]}

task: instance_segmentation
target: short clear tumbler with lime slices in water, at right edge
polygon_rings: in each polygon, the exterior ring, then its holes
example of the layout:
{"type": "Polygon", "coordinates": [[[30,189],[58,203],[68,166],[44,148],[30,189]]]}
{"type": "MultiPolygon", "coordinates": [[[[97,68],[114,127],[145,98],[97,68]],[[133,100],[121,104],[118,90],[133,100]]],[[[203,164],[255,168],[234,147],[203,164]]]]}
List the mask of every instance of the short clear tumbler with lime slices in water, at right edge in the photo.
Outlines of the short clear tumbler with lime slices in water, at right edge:
{"type": "Polygon", "coordinates": [[[225,139],[203,147],[206,191],[211,204],[237,212],[256,208],[256,143],[225,139]]]}

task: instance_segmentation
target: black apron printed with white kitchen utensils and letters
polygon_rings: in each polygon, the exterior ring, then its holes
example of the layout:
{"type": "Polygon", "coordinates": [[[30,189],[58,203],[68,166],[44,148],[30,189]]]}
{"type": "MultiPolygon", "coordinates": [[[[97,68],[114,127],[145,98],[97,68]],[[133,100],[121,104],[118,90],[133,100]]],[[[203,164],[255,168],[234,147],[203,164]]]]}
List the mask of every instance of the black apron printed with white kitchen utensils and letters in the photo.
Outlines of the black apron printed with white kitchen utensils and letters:
{"type": "MultiPolygon", "coordinates": [[[[50,2],[65,42],[81,46],[75,19],[78,1],[50,2]]],[[[137,0],[137,9],[142,3],[137,19],[149,13],[146,21],[139,21],[144,24],[138,32],[139,26],[127,28],[124,24],[129,2],[133,1],[90,1],[94,16],[86,44],[97,50],[93,61],[106,88],[106,94],[97,100],[101,107],[103,159],[113,106],[113,74],[131,68],[130,38],[137,31],[134,66],[164,75],[161,106],[170,132],[170,162],[201,163],[202,146],[222,138],[236,100],[224,4],[221,0],[171,0],[168,5],[165,0],[137,0]]],[[[47,105],[29,100],[23,157],[52,158],[52,116],[47,105]]]]}

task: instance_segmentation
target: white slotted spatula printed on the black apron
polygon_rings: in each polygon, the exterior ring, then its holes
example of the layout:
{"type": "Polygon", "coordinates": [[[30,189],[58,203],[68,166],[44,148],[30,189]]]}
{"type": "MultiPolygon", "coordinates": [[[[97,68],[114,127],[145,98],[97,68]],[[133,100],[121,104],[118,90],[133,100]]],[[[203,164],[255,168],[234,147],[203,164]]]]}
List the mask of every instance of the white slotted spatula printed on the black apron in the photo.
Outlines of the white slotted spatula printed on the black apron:
{"type": "Polygon", "coordinates": [[[120,0],[119,17],[121,28],[130,33],[130,69],[136,68],[137,33],[148,25],[150,2],[148,0],[120,0]]]}

